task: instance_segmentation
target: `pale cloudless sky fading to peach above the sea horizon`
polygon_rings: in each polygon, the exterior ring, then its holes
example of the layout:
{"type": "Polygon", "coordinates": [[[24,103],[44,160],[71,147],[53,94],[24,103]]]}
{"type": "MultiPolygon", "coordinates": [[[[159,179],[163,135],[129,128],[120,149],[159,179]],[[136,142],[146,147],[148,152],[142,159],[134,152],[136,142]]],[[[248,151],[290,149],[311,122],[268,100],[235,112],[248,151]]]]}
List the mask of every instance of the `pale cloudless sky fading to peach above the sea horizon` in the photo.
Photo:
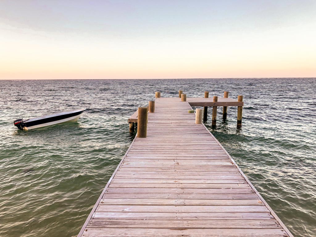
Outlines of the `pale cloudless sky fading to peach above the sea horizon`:
{"type": "Polygon", "coordinates": [[[315,0],[1,0],[0,79],[316,77],[315,0]]]}

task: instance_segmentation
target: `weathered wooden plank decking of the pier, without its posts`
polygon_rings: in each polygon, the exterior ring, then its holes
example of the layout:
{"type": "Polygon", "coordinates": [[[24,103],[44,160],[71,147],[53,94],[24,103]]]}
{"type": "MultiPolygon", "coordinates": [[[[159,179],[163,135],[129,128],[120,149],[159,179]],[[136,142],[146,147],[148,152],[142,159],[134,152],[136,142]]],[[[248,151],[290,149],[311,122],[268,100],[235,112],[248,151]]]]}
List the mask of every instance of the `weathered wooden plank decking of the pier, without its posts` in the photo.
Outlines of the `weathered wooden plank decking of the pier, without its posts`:
{"type": "MultiPolygon", "coordinates": [[[[190,104],[212,103],[157,98],[147,137],[135,137],[78,237],[293,236],[222,145],[188,113],[190,104]]],[[[240,106],[228,98],[215,106],[230,103],[240,106]]]]}

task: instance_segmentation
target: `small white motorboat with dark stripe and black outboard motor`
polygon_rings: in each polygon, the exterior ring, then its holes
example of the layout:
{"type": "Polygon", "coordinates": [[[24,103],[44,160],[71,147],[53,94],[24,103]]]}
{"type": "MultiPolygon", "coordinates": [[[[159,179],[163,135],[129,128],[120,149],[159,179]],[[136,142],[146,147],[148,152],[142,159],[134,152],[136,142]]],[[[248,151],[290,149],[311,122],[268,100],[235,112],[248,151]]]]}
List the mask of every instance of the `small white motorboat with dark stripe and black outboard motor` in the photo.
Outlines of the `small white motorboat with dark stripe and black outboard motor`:
{"type": "Polygon", "coordinates": [[[82,115],[83,111],[85,111],[85,109],[54,113],[33,119],[17,119],[14,120],[13,123],[18,127],[19,130],[30,130],[33,128],[41,128],[64,122],[77,121],[82,115]]]}

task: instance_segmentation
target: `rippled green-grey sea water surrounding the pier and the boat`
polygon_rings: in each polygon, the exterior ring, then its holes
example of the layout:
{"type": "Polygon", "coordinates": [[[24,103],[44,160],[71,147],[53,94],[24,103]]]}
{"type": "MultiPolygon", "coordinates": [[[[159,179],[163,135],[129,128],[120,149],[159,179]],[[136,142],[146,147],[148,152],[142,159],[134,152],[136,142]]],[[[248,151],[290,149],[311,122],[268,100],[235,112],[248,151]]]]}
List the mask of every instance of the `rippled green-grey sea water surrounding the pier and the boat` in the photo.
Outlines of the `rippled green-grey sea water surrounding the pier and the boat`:
{"type": "Polygon", "coordinates": [[[0,81],[0,235],[76,236],[128,149],[127,118],[161,96],[244,96],[206,126],[299,237],[316,232],[316,79],[0,81]],[[18,131],[13,120],[87,108],[73,123],[18,131]]]}

